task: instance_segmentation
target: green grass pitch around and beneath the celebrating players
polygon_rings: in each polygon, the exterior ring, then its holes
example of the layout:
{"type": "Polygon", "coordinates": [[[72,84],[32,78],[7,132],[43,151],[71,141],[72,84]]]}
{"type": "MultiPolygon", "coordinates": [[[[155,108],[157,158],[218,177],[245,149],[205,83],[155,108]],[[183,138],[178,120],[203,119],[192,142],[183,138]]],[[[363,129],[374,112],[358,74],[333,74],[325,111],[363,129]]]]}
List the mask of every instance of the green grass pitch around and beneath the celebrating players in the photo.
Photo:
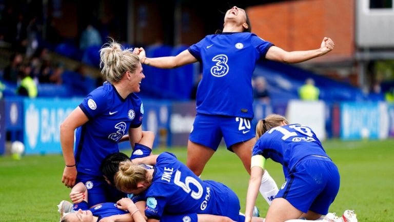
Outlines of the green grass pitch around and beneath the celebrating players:
{"type": "MultiPolygon", "coordinates": [[[[341,173],[341,188],[330,212],[342,214],[346,209],[354,209],[362,222],[393,221],[394,140],[329,140],[323,146],[341,173]]],[[[185,162],[186,149],[166,151],[185,162]]],[[[19,161],[0,157],[0,221],[58,221],[56,205],[68,199],[70,191],[61,182],[63,168],[61,155],[24,156],[19,161]]],[[[280,187],[284,182],[282,167],[268,160],[266,168],[280,187]]],[[[249,176],[237,156],[220,148],[207,164],[202,178],[229,186],[240,197],[244,211],[249,176]]],[[[268,206],[260,196],[257,205],[264,216],[268,206]]]]}

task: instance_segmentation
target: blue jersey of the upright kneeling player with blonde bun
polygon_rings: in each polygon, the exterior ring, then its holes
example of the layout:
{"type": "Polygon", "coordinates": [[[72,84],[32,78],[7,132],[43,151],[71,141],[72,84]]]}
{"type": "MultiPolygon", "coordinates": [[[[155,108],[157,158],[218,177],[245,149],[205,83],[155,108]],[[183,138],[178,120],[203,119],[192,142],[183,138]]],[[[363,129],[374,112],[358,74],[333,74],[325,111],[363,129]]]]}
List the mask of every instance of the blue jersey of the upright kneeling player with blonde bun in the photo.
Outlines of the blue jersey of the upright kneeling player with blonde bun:
{"type": "Polygon", "coordinates": [[[108,154],[119,152],[117,143],[127,134],[129,127],[141,126],[144,107],[134,93],[123,99],[107,82],[89,93],[79,107],[89,121],[75,133],[77,171],[101,176],[102,160],[108,154]]]}

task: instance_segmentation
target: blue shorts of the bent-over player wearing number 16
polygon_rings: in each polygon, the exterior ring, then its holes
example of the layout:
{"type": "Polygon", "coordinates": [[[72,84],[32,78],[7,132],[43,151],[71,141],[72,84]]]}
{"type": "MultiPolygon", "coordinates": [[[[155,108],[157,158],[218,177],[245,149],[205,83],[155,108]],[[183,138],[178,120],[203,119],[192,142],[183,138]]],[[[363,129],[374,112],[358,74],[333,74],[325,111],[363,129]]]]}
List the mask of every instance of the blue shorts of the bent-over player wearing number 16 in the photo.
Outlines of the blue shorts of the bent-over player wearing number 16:
{"type": "Polygon", "coordinates": [[[337,166],[326,157],[307,157],[296,164],[275,196],[283,197],[298,210],[325,215],[339,191],[337,166]]]}

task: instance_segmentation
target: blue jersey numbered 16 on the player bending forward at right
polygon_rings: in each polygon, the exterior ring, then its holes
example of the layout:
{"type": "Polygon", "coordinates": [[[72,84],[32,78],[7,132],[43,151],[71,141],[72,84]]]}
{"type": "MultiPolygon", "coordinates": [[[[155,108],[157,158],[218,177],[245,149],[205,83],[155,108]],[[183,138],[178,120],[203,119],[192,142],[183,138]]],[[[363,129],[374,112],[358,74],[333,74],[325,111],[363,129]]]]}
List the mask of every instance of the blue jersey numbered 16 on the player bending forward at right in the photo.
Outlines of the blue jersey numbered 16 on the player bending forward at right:
{"type": "Polygon", "coordinates": [[[253,147],[254,155],[263,155],[282,164],[285,177],[306,156],[328,157],[316,134],[300,124],[275,127],[265,132],[253,147]]]}

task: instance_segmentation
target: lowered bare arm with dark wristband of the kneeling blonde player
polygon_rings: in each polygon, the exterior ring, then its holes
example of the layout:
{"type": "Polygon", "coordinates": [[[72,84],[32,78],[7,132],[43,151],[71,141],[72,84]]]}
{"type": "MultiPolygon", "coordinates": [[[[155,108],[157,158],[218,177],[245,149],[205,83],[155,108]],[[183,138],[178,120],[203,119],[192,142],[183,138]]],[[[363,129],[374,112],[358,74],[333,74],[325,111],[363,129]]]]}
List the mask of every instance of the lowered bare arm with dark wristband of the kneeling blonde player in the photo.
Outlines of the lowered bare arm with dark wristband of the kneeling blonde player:
{"type": "Polygon", "coordinates": [[[76,166],[74,158],[74,131],[88,122],[88,117],[80,107],[75,108],[60,126],[60,143],[66,167],[63,171],[62,183],[72,187],[76,179],[76,166]]]}

